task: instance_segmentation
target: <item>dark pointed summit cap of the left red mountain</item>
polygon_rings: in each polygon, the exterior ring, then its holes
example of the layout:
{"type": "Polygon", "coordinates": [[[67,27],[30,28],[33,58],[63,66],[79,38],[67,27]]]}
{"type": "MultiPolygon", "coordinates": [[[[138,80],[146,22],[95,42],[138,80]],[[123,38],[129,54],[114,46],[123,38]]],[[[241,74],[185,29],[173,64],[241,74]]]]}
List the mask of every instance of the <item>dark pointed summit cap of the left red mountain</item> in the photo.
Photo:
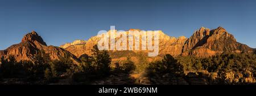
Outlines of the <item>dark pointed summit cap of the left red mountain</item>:
{"type": "Polygon", "coordinates": [[[38,33],[35,32],[35,30],[32,30],[31,33],[27,33],[23,38],[22,38],[22,42],[26,42],[26,41],[30,41],[30,42],[38,42],[44,46],[46,45],[46,42],[43,41],[43,38],[41,36],[38,35],[38,33]]]}

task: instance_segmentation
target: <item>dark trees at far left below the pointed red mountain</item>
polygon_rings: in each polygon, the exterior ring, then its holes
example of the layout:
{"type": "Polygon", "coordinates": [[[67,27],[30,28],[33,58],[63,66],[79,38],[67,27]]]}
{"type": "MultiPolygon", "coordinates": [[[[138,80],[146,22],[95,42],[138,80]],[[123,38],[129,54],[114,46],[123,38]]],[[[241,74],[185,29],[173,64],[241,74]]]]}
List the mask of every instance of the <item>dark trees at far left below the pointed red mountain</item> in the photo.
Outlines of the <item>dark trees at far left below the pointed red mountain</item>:
{"type": "Polygon", "coordinates": [[[34,56],[34,62],[20,61],[16,62],[14,56],[1,58],[0,74],[5,78],[25,78],[27,81],[52,80],[60,73],[66,72],[72,63],[72,60],[61,58],[51,62],[49,54],[39,51],[34,56]]]}

